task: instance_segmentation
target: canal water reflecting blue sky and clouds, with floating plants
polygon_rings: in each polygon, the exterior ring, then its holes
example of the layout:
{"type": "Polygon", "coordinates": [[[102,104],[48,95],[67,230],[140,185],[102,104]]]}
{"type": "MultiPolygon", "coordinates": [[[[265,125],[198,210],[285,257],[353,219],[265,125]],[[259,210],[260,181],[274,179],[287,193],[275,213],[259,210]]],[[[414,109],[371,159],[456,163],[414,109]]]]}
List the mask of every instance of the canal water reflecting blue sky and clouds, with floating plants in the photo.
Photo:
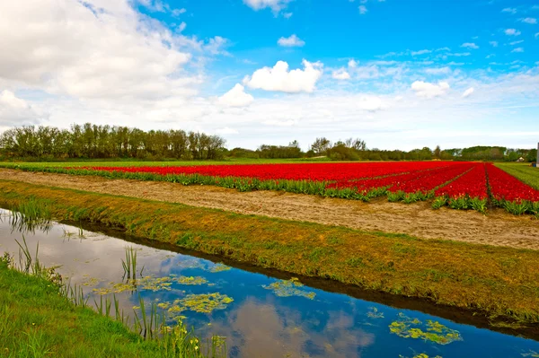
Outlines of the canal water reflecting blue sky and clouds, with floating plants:
{"type": "Polygon", "coordinates": [[[41,263],[59,266],[72,284],[82,285],[90,303],[116,292],[121,308],[133,316],[140,294],[146,304],[159,303],[171,321],[182,317],[198,336],[225,336],[231,357],[539,356],[535,340],[155,249],[140,240],[91,231],[80,236],[66,224],[25,231],[11,225],[10,212],[0,209],[0,215],[0,253],[18,258],[15,240],[24,235],[32,253],[39,242],[41,263]],[[138,271],[144,267],[136,293],[122,284],[126,247],[137,249],[138,271]]]}

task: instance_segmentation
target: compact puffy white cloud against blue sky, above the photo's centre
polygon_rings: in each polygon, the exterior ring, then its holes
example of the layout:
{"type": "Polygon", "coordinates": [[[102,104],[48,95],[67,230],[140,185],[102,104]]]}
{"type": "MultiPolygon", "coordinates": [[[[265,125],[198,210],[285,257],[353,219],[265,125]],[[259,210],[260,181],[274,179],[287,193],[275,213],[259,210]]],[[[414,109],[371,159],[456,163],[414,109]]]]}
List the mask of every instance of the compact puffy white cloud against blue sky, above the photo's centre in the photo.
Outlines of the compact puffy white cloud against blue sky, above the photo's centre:
{"type": "Polygon", "coordinates": [[[288,64],[278,61],[271,67],[256,70],[246,76],[243,83],[251,88],[278,92],[313,92],[316,82],[322,77],[323,64],[303,60],[304,69],[288,70],[288,64]]]}

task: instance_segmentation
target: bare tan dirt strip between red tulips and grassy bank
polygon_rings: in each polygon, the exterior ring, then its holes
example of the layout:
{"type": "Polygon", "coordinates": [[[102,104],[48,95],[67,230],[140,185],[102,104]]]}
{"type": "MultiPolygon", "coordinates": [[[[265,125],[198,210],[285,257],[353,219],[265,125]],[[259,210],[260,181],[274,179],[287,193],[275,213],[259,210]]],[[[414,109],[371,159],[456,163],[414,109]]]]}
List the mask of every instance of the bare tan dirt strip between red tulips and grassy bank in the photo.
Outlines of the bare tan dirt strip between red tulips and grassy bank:
{"type": "Polygon", "coordinates": [[[240,193],[217,187],[184,187],[166,182],[112,180],[21,170],[0,170],[0,179],[213,207],[241,214],[341,225],[366,231],[407,233],[425,239],[539,249],[539,220],[530,216],[514,216],[502,210],[485,216],[446,208],[432,210],[429,203],[404,205],[388,203],[385,199],[361,203],[272,191],[240,193]]]}

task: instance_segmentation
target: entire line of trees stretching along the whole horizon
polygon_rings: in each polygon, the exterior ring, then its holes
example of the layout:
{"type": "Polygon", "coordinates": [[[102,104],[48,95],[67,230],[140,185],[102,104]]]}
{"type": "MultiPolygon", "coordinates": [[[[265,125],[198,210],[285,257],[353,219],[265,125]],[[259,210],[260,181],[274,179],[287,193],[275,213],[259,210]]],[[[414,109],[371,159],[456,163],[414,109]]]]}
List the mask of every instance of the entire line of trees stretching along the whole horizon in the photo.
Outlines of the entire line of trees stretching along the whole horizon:
{"type": "Polygon", "coordinates": [[[316,138],[307,152],[297,141],[288,145],[261,144],[258,149],[228,150],[219,135],[207,135],[183,130],[150,130],[98,126],[91,123],[57,127],[14,127],[0,135],[0,158],[40,161],[68,159],[144,160],[219,160],[228,158],[287,159],[328,157],[333,161],[510,161],[523,158],[534,162],[536,149],[511,149],[502,146],[474,146],[434,150],[429,147],[400,150],[367,148],[365,141],[349,138],[332,143],[325,137],[316,138]]]}

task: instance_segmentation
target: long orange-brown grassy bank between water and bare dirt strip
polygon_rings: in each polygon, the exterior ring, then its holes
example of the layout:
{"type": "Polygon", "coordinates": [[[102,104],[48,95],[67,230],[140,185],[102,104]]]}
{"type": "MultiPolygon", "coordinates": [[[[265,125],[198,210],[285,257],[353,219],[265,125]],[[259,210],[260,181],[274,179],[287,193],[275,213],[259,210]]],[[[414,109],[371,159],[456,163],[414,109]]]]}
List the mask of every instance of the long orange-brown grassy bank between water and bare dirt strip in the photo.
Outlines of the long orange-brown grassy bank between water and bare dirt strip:
{"type": "Polygon", "coordinates": [[[418,297],[492,318],[539,322],[539,251],[420,240],[123,196],[0,181],[0,205],[31,201],[181,248],[296,275],[418,297]]]}

